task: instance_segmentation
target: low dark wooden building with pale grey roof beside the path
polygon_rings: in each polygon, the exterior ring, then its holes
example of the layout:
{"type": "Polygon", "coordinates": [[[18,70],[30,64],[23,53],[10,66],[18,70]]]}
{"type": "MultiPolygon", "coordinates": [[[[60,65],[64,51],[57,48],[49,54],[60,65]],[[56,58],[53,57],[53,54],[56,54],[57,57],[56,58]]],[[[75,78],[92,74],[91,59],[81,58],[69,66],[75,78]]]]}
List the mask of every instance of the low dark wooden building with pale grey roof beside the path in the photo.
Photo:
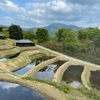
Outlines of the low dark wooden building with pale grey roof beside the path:
{"type": "Polygon", "coordinates": [[[16,41],[16,46],[20,46],[20,47],[35,46],[35,43],[30,40],[21,39],[16,41]]]}

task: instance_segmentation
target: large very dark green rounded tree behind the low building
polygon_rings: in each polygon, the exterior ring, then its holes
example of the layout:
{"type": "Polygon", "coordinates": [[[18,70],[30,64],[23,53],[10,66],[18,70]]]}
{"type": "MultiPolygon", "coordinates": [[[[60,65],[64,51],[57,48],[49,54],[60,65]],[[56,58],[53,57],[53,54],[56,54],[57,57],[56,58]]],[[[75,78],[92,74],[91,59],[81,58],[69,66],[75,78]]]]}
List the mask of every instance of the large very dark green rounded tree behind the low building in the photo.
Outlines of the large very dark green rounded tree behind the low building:
{"type": "Polygon", "coordinates": [[[9,35],[12,39],[23,39],[22,28],[19,25],[11,25],[9,27],[9,35]]]}

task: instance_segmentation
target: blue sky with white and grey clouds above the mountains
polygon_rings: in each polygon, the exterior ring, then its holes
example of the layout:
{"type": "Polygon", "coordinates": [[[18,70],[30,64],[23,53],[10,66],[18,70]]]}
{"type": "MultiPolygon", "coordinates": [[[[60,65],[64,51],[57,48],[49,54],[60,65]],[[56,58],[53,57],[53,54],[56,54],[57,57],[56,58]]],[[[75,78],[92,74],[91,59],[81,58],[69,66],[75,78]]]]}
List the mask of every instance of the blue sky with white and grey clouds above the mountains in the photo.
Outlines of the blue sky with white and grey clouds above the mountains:
{"type": "Polygon", "coordinates": [[[0,0],[0,24],[100,27],[100,0],[0,0]]]}

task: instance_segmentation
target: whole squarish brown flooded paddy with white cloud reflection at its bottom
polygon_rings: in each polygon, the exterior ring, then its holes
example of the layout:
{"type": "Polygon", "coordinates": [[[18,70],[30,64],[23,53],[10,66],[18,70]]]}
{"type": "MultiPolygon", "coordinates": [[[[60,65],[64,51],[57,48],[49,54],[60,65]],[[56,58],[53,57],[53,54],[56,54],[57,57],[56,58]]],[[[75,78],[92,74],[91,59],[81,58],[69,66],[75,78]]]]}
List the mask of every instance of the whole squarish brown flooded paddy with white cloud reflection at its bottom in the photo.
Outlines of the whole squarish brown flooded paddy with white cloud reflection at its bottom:
{"type": "Polygon", "coordinates": [[[83,66],[69,66],[63,75],[62,82],[67,83],[74,88],[83,87],[81,82],[83,68],[83,66]]]}

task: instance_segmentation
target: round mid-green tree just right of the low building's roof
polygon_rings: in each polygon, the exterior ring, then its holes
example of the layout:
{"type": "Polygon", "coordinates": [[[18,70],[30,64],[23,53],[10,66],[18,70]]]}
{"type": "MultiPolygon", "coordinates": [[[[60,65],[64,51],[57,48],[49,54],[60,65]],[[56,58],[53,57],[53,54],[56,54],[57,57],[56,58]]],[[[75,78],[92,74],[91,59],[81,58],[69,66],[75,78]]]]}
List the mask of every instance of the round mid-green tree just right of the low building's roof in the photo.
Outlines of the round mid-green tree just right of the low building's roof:
{"type": "Polygon", "coordinates": [[[36,38],[39,43],[49,40],[48,30],[43,28],[38,28],[36,31],[36,38]]]}

